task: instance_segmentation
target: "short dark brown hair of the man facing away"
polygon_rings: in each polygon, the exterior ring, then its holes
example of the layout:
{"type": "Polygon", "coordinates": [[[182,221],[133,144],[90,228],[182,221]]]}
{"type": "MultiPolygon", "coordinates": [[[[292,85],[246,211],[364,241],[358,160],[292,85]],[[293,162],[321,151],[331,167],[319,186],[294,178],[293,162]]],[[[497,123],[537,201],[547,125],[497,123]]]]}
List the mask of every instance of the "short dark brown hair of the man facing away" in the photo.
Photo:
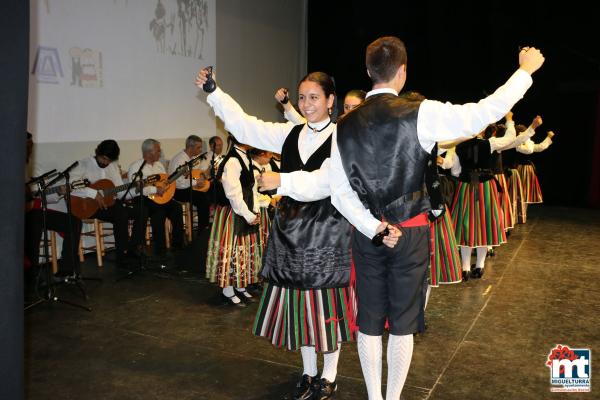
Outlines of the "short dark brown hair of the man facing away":
{"type": "Polygon", "coordinates": [[[373,83],[389,82],[398,68],[406,65],[406,48],[395,36],[384,36],[367,47],[367,71],[373,83]]]}

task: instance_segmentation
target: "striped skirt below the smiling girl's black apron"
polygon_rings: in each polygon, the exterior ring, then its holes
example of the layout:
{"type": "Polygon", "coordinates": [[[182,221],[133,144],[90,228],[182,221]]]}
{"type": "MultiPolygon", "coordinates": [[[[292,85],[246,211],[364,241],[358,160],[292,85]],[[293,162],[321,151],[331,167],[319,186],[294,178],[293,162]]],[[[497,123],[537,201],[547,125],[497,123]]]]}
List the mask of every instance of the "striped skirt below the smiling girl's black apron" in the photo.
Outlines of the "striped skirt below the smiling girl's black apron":
{"type": "Polygon", "coordinates": [[[301,346],[335,351],[338,343],[354,340],[349,325],[352,293],[350,287],[303,290],[267,283],[252,332],[292,351],[301,346]]]}

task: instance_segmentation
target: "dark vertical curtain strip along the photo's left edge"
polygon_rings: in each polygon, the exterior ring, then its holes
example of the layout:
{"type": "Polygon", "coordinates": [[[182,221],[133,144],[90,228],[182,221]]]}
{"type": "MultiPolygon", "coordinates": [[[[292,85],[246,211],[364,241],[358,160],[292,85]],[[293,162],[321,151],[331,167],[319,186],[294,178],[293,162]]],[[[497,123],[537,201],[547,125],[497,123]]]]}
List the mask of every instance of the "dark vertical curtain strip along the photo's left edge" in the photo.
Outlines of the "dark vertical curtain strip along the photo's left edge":
{"type": "Polygon", "coordinates": [[[0,399],[23,398],[23,214],[29,1],[0,9],[0,399]]]}

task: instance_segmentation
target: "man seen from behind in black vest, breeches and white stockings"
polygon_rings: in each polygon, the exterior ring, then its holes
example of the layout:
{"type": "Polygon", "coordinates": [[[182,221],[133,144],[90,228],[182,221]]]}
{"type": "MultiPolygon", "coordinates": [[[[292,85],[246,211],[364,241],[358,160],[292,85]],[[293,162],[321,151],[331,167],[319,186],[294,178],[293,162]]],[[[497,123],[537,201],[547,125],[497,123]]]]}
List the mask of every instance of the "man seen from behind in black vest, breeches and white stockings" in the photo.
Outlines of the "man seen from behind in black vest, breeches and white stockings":
{"type": "Polygon", "coordinates": [[[419,103],[397,96],[406,82],[404,43],[382,37],[367,47],[373,90],[338,123],[330,182],[332,203],[357,228],[352,244],[357,342],[370,400],[382,399],[381,338],[386,320],[390,330],[387,400],[400,398],[412,358],[413,333],[424,327],[430,208],[424,176],[429,153],[436,141],[471,137],[499,120],[524,95],[532,83],[530,75],[543,62],[539,50],[526,47],[519,53],[519,70],[479,103],[419,103]],[[374,246],[381,239],[376,234],[385,233],[381,220],[390,224],[390,231],[395,226],[402,232],[394,248],[374,246]]]}

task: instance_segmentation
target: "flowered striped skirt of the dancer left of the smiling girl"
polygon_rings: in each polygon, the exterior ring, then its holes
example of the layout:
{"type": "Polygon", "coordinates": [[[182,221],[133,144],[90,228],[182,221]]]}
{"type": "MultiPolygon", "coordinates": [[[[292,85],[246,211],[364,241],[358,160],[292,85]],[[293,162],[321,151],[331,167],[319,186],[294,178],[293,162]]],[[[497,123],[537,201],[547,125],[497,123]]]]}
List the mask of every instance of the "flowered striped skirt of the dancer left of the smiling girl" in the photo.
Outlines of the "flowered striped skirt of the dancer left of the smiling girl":
{"type": "Polygon", "coordinates": [[[237,235],[231,207],[217,206],[208,239],[206,278],[220,287],[245,288],[258,282],[266,244],[261,229],[237,235]]]}

